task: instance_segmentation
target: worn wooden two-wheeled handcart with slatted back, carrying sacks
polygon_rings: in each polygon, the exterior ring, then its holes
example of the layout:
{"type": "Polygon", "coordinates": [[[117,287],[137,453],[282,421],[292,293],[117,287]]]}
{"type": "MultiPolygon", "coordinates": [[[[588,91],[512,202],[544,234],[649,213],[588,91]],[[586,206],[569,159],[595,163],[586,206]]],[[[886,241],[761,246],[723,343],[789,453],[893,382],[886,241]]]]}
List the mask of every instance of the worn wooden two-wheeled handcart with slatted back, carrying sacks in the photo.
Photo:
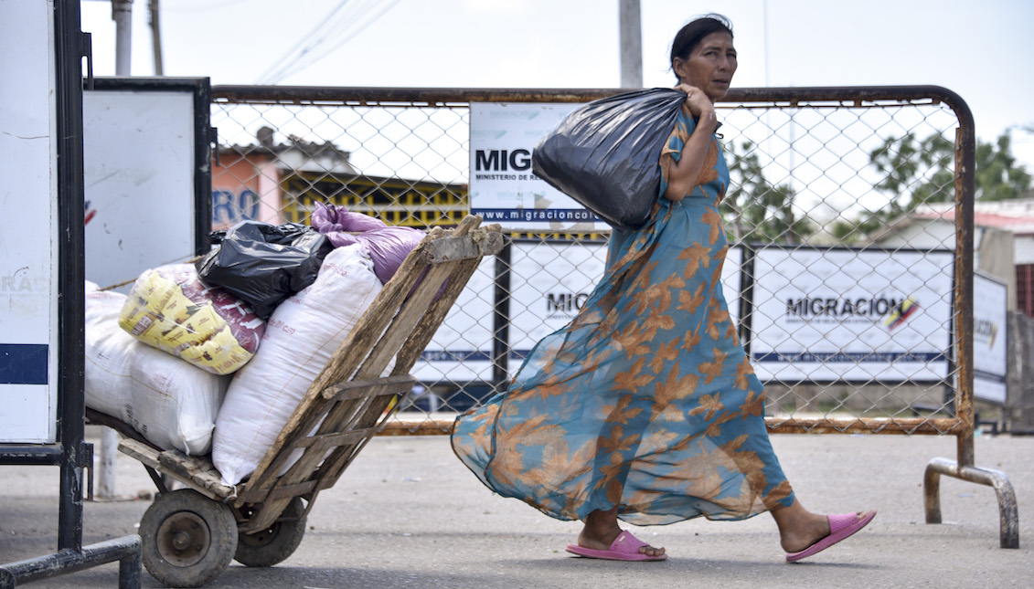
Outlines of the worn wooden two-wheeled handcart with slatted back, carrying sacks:
{"type": "Polygon", "coordinates": [[[455,229],[428,233],[324,366],[255,471],[236,486],[221,482],[210,456],[162,451],[126,424],[87,411],[90,423],[125,436],[119,450],[142,462],[158,487],[140,524],[144,565],[155,579],[199,587],[232,560],[272,566],[294,553],[316,496],[384,428],[416,383],[409,370],[482,257],[503,248],[499,226],[480,224],[481,217],[467,216],[455,229]],[[393,358],[392,373],[381,377],[393,358]],[[296,451],[301,458],[278,475],[296,451]],[[170,490],[170,479],[185,488],[170,490]]]}

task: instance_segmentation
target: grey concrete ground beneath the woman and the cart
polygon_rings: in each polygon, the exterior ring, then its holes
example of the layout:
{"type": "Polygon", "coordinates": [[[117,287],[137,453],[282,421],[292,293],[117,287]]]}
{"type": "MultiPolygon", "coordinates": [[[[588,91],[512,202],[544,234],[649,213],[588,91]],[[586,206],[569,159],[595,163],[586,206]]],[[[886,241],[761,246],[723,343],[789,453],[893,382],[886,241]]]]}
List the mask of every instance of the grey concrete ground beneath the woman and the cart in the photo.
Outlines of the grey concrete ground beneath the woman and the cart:
{"type": "MultiPolygon", "coordinates": [[[[91,441],[97,442],[95,431],[91,441]]],[[[90,436],[88,436],[90,437],[90,436]]],[[[816,512],[876,508],[868,528],[802,563],[787,564],[768,516],[635,528],[667,548],[664,562],[620,563],[564,552],[579,524],[492,495],[445,437],[381,437],[322,493],[294,555],[271,568],[236,562],[207,587],[1034,587],[1034,438],[979,436],[978,467],[1008,475],[1020,509],[1018,550],[999,548],[989,487],[944,477],[944,524],[923,517],[931,459],[954,459],[955,438],[782,435],[773,445],[801,502],[816,512]]],[[[153,492],[139,463],[119,456],[123,498],[85,505],[84,544],[134,533],[153,492]]],[[[2,466],[0,563],[57,547],[58,471],[2,466]]],[[[28,585],[116,587],[117,564],[28,585]]],[[[143,587],[160,587],[145,570],[143,587]]]]}

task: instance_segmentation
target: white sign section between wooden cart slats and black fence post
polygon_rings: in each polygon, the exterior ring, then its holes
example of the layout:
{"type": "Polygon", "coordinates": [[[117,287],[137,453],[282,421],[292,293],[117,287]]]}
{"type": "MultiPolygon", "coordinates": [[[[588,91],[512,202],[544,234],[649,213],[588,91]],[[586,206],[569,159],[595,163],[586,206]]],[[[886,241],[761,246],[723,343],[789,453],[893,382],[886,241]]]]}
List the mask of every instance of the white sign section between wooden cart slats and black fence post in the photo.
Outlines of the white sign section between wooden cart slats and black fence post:
{"type": "Polygon", "coordinates": [[[492,380],[495,257],[482,259],[410,373],[425,383],[492,380]]]}

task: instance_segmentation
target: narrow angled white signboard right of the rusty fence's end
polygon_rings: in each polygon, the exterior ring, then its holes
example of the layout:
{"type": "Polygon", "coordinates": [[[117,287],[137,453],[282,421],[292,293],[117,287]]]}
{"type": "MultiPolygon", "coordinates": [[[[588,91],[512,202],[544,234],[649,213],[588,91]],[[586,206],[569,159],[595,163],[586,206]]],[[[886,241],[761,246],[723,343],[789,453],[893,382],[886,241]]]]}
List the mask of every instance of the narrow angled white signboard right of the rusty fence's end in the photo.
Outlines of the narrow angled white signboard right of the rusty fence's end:
{"type": "Polygon", "coordinates": [[[1007,306],[1008,285],[980,273],[973,276],[973,396],[1001,404],[1008,374],[1007,306]]]}

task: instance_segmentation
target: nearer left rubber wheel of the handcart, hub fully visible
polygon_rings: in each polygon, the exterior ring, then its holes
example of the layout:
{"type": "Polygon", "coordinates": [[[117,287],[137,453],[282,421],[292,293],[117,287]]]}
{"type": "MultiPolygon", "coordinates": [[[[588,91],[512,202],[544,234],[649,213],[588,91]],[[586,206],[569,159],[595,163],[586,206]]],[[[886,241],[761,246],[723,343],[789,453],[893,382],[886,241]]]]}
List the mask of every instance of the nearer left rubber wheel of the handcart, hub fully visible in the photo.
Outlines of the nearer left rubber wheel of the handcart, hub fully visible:
{"type": "Polygon", "coordinates": [[[162,493],[140,522],[144,566],[169,587],[201,587],[237,550],[237,521],[225,503],[192,489],[162,493]]]}

